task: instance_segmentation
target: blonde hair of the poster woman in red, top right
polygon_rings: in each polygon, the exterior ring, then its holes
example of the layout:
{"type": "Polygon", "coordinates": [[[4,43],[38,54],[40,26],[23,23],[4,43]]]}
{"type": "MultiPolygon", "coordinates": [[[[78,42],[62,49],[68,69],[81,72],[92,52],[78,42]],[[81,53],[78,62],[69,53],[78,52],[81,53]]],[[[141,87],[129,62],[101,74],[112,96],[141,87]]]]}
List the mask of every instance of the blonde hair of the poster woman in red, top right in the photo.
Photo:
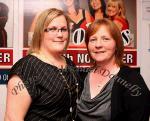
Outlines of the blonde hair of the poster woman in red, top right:
{"type": "Polygon", "coordinates": [[[108,0],[107,9],[109,5],[115,5],[119,9],[119,16],[126,18],[126,10],[123,0],[108,0]]]}

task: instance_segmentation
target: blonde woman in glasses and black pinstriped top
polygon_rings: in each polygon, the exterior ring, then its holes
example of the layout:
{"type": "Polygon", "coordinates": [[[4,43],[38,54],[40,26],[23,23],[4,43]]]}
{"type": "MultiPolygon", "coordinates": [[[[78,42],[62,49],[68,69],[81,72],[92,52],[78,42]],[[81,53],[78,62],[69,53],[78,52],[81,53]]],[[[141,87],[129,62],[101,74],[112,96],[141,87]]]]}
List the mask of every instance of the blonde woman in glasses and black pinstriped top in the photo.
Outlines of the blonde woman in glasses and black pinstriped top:
{"type": "Polygon", "coordinates": [[[63,56],[68,41],[68,17],[55,8],[42,12],[29,55],[10,71],[5,121],[74,120],[78,78],[63,56]]]}

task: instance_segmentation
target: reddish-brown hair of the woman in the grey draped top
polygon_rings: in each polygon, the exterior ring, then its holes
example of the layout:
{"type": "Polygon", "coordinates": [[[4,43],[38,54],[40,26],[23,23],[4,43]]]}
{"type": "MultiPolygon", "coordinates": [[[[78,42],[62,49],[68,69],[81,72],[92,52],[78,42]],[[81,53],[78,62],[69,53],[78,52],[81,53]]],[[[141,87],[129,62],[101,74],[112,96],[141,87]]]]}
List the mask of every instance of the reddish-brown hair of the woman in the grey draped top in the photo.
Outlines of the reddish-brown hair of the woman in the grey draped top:
{"type": "Polygon", "coordinates": [[[116,51],[115,51],[116,63],[119,66],[125,65],[122,61],[124,46],[123,46],[123,41],[122,41],[120,30],[114,22],[112,22],[111,20],[107,18],[95,20],[92,24],[89,25],[86,31],[86,39],[85,39],[87,50],[88,50],[89,38],[92,35],[94,35],[99,30],[99,28],[103,25],[108,28],[110,35],[116,42],[116,51]]]}

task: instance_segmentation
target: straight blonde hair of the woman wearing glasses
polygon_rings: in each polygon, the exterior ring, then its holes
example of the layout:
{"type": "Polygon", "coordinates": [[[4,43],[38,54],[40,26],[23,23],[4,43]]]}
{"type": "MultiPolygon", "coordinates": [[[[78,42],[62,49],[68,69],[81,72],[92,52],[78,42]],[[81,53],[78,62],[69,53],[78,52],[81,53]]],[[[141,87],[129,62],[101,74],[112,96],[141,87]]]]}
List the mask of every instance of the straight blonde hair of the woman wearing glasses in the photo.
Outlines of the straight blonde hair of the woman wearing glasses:
{"type": "MultiPolygon", "coordinates": [[[[36,24],[35,24],[35,29],[34,29],[34,33],[33,33],[31,46],[28,51],[29,54],[33,53],[33,52],[35,52],[35,53],[39,52],[40,46],[41,46],[41,41],[44,36],[44,29],[49,25],[49,23],[51,23],[51,21],[53,19],[55,19],[59,16],[62,16],[62,15],[66,18],[67,28],[68,28],[68,32],[69,32],[69,19],[62,10],[59,10],[56,8],[50,8],[50,9],[46,9],[39,15],[39,17],[36,21],[36,24]]],[[[69,36],[70,36],[70,34],[69,34],[69,36]]],[[[69,40],[69,37],[68,37],[68,40],[69,40]]]]}

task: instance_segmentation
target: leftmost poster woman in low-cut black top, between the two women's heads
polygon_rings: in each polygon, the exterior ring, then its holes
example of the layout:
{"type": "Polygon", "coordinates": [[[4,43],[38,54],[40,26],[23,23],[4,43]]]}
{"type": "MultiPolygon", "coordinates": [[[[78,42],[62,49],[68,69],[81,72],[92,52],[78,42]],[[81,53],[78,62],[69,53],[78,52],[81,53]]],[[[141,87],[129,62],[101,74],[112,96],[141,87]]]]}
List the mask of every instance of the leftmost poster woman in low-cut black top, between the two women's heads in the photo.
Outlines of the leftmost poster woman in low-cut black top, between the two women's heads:
{"type": "Polygon", "coordinates": [[[92,17],[87,10],[80,8],[79,0],[62,0],[61,6],[71,20],[71,29],[87,29],[88,23],[91,23],[92,17]]]}

